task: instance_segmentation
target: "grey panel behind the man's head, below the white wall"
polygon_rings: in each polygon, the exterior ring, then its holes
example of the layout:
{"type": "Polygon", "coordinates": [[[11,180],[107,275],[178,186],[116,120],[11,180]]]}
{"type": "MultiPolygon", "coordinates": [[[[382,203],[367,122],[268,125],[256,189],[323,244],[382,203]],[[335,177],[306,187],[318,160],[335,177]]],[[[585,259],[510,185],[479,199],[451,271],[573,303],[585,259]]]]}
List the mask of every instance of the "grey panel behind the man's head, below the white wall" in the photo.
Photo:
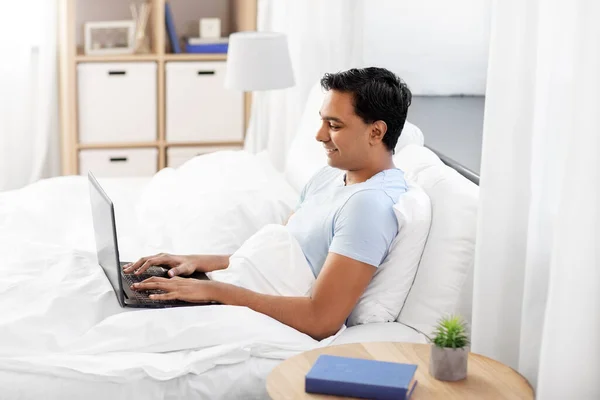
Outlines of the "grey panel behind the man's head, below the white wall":
{"type": "Polygon", "coordinates": [[[484,96],[413,96],[407,119],[427,146],[479,174],[484,103],[484,96]]]}

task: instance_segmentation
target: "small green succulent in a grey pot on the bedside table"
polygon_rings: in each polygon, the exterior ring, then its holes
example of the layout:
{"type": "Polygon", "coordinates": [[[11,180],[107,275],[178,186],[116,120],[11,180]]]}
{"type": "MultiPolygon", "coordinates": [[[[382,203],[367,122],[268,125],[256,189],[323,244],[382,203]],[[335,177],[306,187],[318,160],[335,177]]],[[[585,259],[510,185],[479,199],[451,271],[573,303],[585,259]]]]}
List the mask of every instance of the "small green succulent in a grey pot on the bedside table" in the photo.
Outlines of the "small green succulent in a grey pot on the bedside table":
{"type": "Polygon", "coordinates": [[[467,377],[469,338],[466,323],[458,316],[442,318],[433,332],[429,373],[441,381],[467,377]]]}

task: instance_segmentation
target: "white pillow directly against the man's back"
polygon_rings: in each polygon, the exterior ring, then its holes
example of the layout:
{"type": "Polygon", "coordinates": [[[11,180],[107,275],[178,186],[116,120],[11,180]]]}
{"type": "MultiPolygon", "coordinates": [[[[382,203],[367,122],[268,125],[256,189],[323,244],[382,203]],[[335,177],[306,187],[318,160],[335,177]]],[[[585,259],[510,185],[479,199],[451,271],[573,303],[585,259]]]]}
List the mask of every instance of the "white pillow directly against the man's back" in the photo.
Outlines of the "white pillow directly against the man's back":
{"type": "Polygon", "coordinates": [[[348,325],[390,322],[400,309],[414,281],[431,224],[431,202],[414,183],[394,205],[398,235],[390,252],[348,318],[348,325]]]}

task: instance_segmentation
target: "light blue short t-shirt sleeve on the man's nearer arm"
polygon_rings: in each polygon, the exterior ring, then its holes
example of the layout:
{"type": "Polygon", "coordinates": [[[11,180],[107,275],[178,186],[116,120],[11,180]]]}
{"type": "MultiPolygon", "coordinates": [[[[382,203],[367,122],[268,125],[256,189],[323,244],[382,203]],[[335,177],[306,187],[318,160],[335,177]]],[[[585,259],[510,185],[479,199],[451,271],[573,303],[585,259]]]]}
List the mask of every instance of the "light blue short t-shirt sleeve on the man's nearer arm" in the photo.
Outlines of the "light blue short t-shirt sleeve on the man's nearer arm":
{"type": "Polygon", "coordinates": [[[334,219],[329,251],[379,267],[398,234],[392,201],[385,193],[354,194],[334,219]]]}

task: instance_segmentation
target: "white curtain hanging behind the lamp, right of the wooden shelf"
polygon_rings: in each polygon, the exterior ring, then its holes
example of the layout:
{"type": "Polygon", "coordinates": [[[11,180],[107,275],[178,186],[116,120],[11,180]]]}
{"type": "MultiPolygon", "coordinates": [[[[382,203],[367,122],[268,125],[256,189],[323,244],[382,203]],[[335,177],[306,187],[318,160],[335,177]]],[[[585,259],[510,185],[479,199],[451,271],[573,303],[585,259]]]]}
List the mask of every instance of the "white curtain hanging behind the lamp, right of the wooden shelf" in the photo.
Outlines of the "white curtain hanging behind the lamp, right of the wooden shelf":
{"type": "Polygon", "coordinates": [[[283,169],[310,88],[326,72],[362,66],[363,3],[259,0],[258,30],[287,35],[296,85],[253,93],[247,150],[267,149],[272,163],[283,169]]]}

